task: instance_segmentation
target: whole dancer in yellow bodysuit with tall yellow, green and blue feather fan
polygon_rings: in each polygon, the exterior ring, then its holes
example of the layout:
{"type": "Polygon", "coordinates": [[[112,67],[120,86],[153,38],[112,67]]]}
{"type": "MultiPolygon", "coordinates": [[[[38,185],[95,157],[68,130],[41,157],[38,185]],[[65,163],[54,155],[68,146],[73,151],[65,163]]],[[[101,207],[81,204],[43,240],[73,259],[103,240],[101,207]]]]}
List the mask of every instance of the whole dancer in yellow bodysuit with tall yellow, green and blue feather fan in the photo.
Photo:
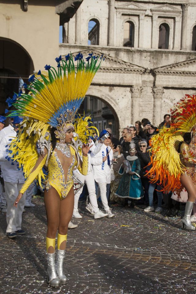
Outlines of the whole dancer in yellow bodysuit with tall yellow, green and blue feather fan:
{"type": "MultiPolygon", "coordinates": [[[[99,57],[89,54],[85,62],[83,55],[79,53],[75,57],[76,69],[72,55],[66,55],[65,60],[62,60],[61,56],[55,60],[58,70],[46,65],[48,72],[39,71],[29,78],[29,86],[24,85],[30,91],[28,94],[19,93],[17,101],[9,101],[14,102],[13,105],[17,109],[9,116],[17,114],[27,119],[18,138],[10,145],[11,154],[8,158],[18,161],[19,168],[23,168],[27,178],[14,203],[15,206],[35,178],[40,185],[43,183],[43,167],[48,168],[44,203],[47,214],[47,274],[48,283],[53,287],[67,281],[63,273],[63,259],[68,224],[74,209],[73,169],[78,168],[84,175],[88,170],[87,154],[90,147],[82,144],[72,122],[104,58],[103,55],[99,57]],[[40,147],[40,155],[36,143],[40,147]],[[78,149],[82,152],[82,161],[78,149]]],[[[80,130],[80,126],[77,128],[80,130]]],[[[92,130],[93,132],[95,130],[92,130]]],[[[83,130],[83,142],[90,134],[91,130],[88,130],[88,134],[86,129],[83,130]]]]}

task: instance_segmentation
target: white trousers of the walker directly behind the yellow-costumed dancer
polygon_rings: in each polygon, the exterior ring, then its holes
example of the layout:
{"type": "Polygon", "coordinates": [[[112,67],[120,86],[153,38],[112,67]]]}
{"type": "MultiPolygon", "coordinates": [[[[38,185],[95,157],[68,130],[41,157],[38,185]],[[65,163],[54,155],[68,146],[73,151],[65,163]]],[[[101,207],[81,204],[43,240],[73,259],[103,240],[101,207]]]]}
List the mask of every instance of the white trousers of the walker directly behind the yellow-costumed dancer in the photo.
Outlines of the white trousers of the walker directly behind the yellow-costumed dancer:
{"type": "MultiPolygon", "coordinates": [[[[88,175],[80,175],[77,172],[74,173],[74,176],[77,177],[82,183],[86,183],[87,189],[89,192],[89,199],[90,203],[92,205],[92,208],[94,210],[94,213],[96,213],[99,208],[97,204],[97,197],[96,197],[96,192],[95,192],[95,179],[94,175],[90,171],[88,175]]],[[[78,207],[78,200],[80,198],[80,194],[82,192],[82,188],[79,189],[76,194],[74,195],[74,210],[77,210],[78,207]]]]}

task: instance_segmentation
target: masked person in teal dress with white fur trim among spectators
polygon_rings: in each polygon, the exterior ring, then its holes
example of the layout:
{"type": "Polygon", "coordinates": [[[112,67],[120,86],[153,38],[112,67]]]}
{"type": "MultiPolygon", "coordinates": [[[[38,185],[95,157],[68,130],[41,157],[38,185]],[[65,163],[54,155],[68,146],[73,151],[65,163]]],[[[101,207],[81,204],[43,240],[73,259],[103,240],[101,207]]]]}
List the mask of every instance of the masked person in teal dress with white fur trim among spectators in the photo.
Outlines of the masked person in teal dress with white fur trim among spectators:
{"type": "Polygon", "coordinates": [[[135,155],[137,153],[135,144],[130,143],[130,156],[126,157],[122,166],[119,168],[119,174],[123,175],[119,187],[116,190],[116,196],[120,198],[141,199],[144,197],[144,191],[140,179],[140,161],[135,155]]]}

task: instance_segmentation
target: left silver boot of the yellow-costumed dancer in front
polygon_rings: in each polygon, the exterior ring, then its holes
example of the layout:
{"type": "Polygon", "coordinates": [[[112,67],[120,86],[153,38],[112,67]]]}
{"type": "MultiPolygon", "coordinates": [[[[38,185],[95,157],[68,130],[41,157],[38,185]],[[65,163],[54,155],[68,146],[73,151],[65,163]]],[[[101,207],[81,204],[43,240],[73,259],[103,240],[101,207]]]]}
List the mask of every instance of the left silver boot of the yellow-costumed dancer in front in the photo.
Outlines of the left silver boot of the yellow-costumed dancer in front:
{"type": "Polygon", "coordinates": [[[56,269],[55,269],[55,253],[47,253],[47,262],[48,262],[47,282],[49,286],[59,287],[60,280],[56,274],[56,269]]]}

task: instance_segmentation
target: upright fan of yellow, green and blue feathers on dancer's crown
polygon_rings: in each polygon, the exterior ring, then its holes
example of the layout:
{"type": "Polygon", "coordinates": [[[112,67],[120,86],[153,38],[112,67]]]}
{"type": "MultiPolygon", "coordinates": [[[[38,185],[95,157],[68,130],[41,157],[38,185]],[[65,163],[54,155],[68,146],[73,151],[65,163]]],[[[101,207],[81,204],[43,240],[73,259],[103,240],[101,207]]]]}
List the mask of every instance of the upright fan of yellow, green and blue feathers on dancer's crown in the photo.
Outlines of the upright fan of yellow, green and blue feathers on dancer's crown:
{"type": "Polygon", "coordinates": [[[74,65],[72,54],[66,55],[65,60],[60,56],[55,59],[57,70],[46,65],[45,69],[48,72],[39,70],[33,74],[29,78],[31,84],[24,85],[30,92],[19,93],[18,100],[13,103],[17,110],[12,111],[9,116],[19,115],[37,119],[57,128],[60,133],[62,125],[71,127],[75,113],[104,60],[103,55],[99,58],[89,54],[85,62],[81,53],[74,59],[77,66],[74,65]]]}

